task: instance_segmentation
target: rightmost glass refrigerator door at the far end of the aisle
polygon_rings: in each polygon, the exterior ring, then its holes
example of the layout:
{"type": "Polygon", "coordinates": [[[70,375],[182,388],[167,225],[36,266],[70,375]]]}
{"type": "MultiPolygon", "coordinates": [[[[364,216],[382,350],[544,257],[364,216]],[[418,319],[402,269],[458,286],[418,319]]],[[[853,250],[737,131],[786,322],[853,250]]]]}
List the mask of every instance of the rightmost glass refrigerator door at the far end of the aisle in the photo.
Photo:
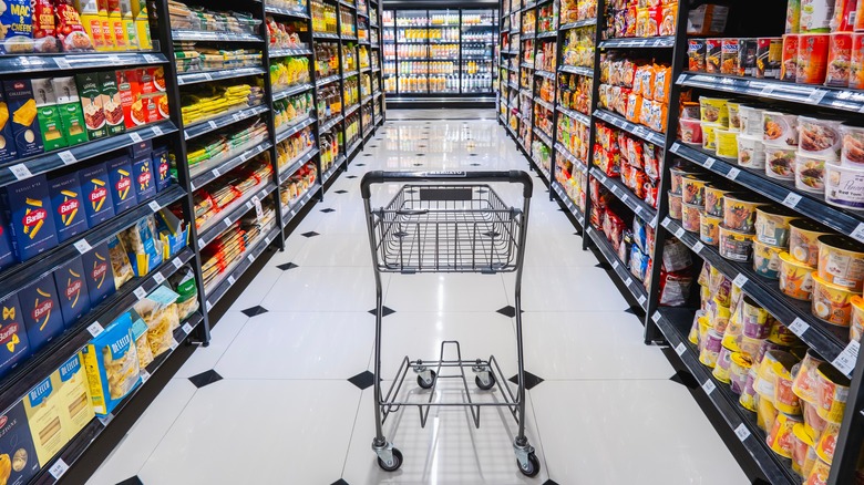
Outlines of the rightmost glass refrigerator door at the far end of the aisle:
{"type": "Polygon", "coordinates": [[[462,92],[491,93],[495,53],[495,10],[462,11],[462,92]]]}

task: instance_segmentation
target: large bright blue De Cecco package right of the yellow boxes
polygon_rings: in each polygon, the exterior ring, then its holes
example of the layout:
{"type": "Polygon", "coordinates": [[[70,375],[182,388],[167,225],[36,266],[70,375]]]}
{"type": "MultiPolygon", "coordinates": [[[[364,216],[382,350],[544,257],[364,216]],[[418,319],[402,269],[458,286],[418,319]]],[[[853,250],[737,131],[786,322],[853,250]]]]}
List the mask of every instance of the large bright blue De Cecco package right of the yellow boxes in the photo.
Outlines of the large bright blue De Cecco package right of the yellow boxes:
{"type": "Polygon", "coordinates": [[[82,351],[90,385],[90,400],[99,416],[110,414],[120,401],[141,384],[132,317],[123,313],[82,351]]]}

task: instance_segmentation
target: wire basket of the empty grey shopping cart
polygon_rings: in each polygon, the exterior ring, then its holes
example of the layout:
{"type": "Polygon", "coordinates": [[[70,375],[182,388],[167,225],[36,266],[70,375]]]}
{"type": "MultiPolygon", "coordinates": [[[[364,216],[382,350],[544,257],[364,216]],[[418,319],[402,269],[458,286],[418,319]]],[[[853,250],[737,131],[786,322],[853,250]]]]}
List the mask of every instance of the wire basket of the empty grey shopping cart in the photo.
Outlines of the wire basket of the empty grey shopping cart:
{"type": "Polygon", "coordinates": [[[407,185],[372,213],[385,272],[508,272],[524,217],[487,185],[407,185]]]}

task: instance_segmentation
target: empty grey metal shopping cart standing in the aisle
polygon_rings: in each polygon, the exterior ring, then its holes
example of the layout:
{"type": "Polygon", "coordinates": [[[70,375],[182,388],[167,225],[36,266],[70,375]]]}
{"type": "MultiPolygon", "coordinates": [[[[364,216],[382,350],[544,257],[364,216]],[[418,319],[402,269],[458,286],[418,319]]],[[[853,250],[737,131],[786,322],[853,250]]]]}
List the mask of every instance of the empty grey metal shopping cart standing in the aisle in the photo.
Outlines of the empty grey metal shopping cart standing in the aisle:
{"type": "MultiPolygon", "coordinates": [[[[388,472],[399,469],[402,453],[383,435],[382,426],[390,413],[402,406],[416,406],[421,426],[425,426],[433,406],[469,407],[474,425],[480,427],[480,409],[507,407],[516,420],[518,432],[513,443],[516,464],[527,476],[539,473],[539,461],[525,437],[525,385],[522,352],[522,267],[525,256],[525,236],[528,207],[533,190],[525,172],[369,172],[361,182],[361,193],[369,228],[369,242],[376,275],[376,357],[374,399],[376,437],[372,450],[378,465],[388,472]],[[486,183],[522,184],[522,208],[505,205],[486,183]],[[402,186],[387,207],[372,209],[370,197],[373,184],[409,183],[402,186]],[[418,184],[423,183],[423,184],[418,184]],[[431,185],[435,184],[435,185],[431,185]],[[441,343],[439,360],[410,360],[405,357],[387,395],[381,394],[381,272],[515,272],[516,353],[518,383],[516,394],[506,384],[506,376],[491,355],[487,360],[463,360],[457,341],[441,343]],[[444,359],[444,350],[453,349],[455,359],[444,359]],[[442,374],[442,369],[455,370],[442,374]],[[482,391],[501,388],[500,400],[475,402],[471,398],[466,369],[475,374],[474,383],[482,391]],[[409,370],[416,373],[416,382],[429,396],[421,402],[400,401],[400,391],[409,370]],[[462,381],[461,402],[433,402],[438,381],[462,381]]],[[[440,396],[439,396],[440,398],[440,396]]]]}

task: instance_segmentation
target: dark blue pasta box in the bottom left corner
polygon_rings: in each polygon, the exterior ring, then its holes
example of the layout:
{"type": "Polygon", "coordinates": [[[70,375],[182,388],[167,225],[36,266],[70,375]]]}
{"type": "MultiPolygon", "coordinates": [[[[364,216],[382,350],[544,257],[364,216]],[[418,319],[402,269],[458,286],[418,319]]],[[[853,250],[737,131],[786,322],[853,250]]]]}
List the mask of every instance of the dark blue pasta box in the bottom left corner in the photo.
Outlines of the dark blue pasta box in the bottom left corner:
{"type": "Polygon", "coordinates": [[[24,403],[19,401],[0,414],[0,472],[8,485],[24,485],[39,472],[24,403]]]}

